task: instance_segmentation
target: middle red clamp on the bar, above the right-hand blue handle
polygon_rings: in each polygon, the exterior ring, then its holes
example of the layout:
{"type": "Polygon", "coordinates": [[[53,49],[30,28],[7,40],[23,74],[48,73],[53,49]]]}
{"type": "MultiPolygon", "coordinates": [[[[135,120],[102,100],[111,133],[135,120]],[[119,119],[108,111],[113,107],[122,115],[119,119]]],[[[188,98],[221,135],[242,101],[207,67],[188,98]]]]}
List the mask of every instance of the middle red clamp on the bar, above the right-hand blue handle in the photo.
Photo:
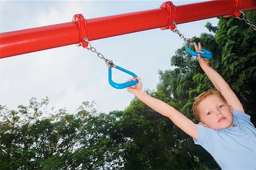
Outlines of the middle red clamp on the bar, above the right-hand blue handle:
{"type": "Polygon", "coordinates": [[[172,29],[174,30],[176,25],[173,23],[176,20],[176,7],[175,5],[169,1],[169,2],[164,2],[160,8],[166,8],[166,11],[168,12],[168,24],[166,25],[166,27],[162,27],[160,28],[161,30],[164,29],[172,29]]]}

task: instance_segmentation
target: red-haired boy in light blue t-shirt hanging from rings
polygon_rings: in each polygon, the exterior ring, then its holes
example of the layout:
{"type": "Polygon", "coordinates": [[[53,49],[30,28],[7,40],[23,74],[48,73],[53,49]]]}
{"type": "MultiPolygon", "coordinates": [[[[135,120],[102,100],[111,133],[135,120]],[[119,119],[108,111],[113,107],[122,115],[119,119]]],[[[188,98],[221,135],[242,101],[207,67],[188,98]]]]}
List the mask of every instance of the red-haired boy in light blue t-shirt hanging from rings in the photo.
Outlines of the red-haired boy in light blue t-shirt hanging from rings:
{"type": "MultiPolygon", "coordinates": [[[[196,52],[201,51],[194,42],[196,52]]],[[[209,66],[208,59],[197,56],[201,68],[214,87],[196,97],[193,113],[199,124],[194,124],[175,108],[142,91],[142,82],[127,88],[148,107],[170,118],[174,124],[191,136],[216,160],[221,169],[256,169],[256,129],[245,114],[242,104],[228,83],[209,66]]]]}

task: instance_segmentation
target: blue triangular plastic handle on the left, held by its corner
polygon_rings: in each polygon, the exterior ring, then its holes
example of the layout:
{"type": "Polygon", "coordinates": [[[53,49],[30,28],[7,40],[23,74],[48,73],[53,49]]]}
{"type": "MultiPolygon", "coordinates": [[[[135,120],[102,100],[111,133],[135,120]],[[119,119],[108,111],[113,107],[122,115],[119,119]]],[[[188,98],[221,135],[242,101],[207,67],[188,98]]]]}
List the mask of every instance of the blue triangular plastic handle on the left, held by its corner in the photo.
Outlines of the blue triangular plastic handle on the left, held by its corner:
{"type": "MultiPolygon", "coordinates": [[[[137,77],[136,74],[134,74],[133,72],[131,72],[129,70],[123,69],[122,67],[119,67],[119,66],[114,66],[114,67],[118,70],[121,70],[121,71],[123,71],[127,74],[132,75],[133,77],[137,77]]],[[[109,68],[109,84],[112,87],[117,88],[117,89],[122,89],[122,88],[133,86],[137,83],[138,83],[138,80],[131,81],[131,82],[125,82],[125,83],[115,83],[115,82],[113,82],[113,80],[112,80],[112,67],[109,68]]]]}

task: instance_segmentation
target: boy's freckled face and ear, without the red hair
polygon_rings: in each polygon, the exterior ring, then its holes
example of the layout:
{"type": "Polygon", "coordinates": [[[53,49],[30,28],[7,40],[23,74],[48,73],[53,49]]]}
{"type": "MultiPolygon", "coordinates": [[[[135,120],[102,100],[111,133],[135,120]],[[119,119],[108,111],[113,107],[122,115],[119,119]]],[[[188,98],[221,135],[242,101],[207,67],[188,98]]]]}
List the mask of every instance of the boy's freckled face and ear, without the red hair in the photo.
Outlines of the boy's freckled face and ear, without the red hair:
{"type": "Polygon", "coordinates": [[[216,130],[233,126],[233,108],[220,96],[207,96],[197,108],[201,120],[199,124],[216,130]]]}

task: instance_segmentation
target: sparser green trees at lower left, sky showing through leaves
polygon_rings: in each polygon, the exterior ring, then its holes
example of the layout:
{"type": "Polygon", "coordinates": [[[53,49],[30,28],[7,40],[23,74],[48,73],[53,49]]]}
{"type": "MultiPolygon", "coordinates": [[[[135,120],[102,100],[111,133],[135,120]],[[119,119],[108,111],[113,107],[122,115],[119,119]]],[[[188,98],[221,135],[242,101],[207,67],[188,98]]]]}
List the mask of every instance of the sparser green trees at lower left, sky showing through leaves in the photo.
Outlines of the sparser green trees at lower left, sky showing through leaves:
{"type": "Polygon", "coordinates": [[[0,107],[1,169],[97,169],[122,164],[109,133],[113,117],[96,114],[88,102],[77,114],[47,108],[48,99],[40,103],[31,99],[18,111],[0,107]]]}

